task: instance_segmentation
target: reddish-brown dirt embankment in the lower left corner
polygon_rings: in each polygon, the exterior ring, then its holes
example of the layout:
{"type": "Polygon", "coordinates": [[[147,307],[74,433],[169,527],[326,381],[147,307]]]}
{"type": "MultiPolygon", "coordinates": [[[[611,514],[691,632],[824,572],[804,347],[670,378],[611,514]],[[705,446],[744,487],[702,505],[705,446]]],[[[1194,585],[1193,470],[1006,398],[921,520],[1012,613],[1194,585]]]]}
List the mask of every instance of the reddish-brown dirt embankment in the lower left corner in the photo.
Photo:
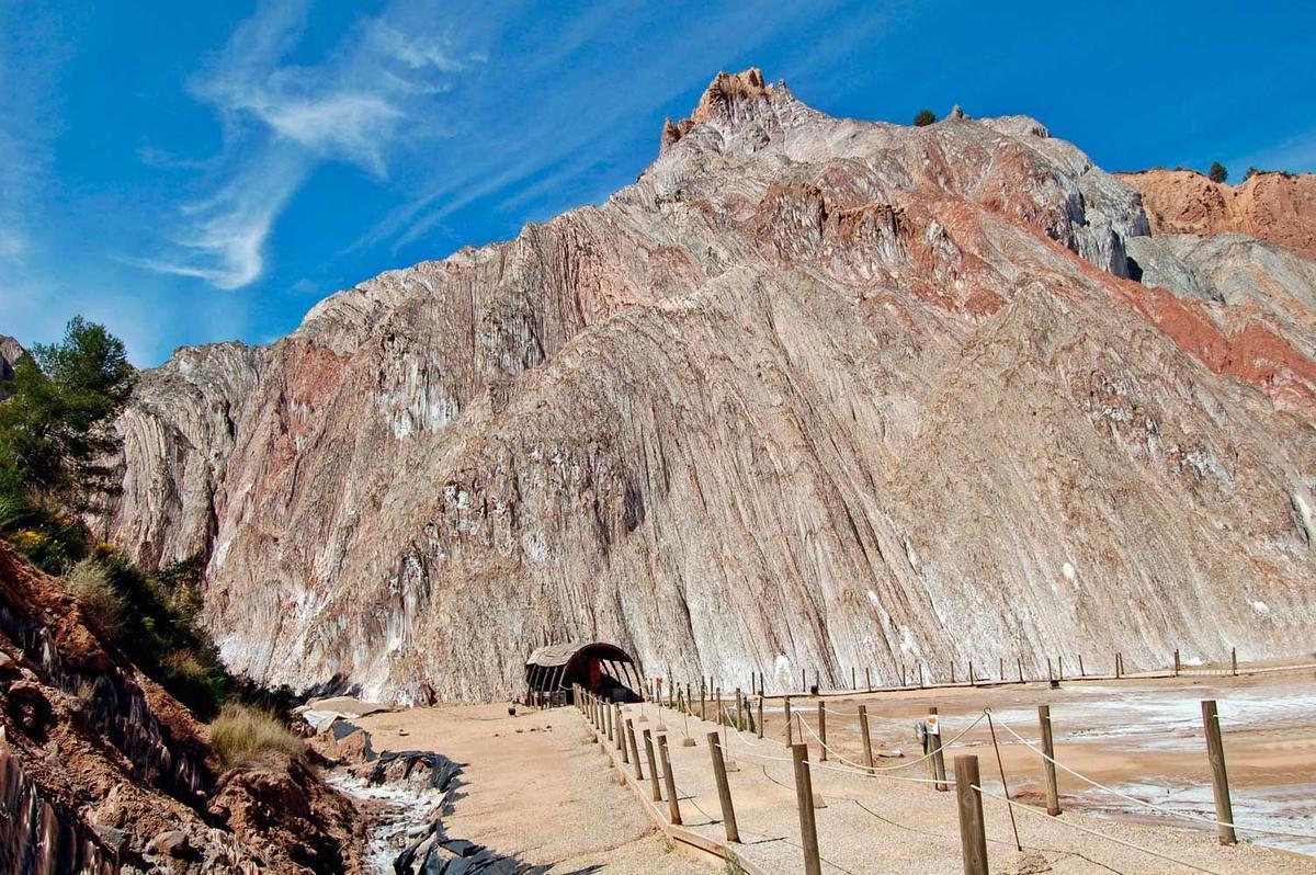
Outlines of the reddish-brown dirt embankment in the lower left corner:
{"type": "Polygon", "coordinates": [[[0,542],[0,871],[359,870],[353,805],[300,764],[217,778],[207,732],[0,542]]]}

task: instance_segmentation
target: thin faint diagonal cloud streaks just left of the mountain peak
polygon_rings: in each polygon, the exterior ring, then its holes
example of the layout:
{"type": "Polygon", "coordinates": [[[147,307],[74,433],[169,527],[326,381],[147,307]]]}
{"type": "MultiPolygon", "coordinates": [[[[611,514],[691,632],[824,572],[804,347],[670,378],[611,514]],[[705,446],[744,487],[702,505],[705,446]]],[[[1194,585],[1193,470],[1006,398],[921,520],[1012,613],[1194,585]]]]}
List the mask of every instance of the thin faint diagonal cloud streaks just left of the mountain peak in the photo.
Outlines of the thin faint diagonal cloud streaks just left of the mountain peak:
{"type": "MultiPolygon", "coordinates": [[[[497,196],[497,209],[524,207],[576,174],[607,164],[633,145],[634,120],[690,88],[691,71],[709,79],[720,66],[745,63],[744,54],[788,33],[808,8],[784,9],[775,16],[749,16],[737,8],[711,8],[688,29],[679,43],[663,51],[642,50],[646,33],[658,26],[661,12],[619,14],[596,7],[591,14],[572,18],[544,51],[520,59],[519,68],[504,71],[499,86],[507,93],[532,91],[525,112],[508,112],[500,103],[476,108],[478,138],[457,143],[434,174],[421,184],[421,193],[393,211],[354,243],[355,247],[392,241],[393,253],[425,239],[437,226],[463,208],[497,196]],[[736,33],[734,43],[726,33],[736,33]],[[621,57],[599,53],[600,43],[628,46],[621,57]],[[597,70],[591,70],[596,64],[597,70]],[[621,75],[624,71],[624,75],[621,75]],[[591,75],[592,74],[592,75],[591,75]]],[[[651,128],[654,157],[659,125],[651,128]]],[[[572,186],[574,189],[594,186],[572,186]]],[[[561,209],[562,204],[558,204],[561,209]]]]}

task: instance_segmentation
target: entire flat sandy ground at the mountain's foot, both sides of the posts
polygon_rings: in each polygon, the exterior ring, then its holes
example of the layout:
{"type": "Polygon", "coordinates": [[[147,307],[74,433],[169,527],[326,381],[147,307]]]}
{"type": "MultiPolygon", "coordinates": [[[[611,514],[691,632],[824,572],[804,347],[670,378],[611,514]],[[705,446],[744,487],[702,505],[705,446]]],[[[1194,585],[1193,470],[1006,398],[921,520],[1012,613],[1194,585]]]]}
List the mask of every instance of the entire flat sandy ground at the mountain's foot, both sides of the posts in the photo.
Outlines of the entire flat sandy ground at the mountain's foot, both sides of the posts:
{"type": "MultiPolygon", "coordinates": [[[[817,705],[828,708],[828,768],[815,767],[815,789],[826,807],[817,812],[826,872],[955,872],[961,870],[953,793],[936,792],[925,763],[855,774],[837,755],[862,762],[855,708],[870,714],[879,766],[909,763],[920,755],[915,721],[937,705],[944,738],[950,739],[983,708],[991,708],[1000,757],[1015,799],[1041,801],[1041,767],[1024,738],[1038,737],[1036,705],[1051,707],[1057,757],[1073,768],[1140,799],[1177,811],[1211,816],[1209,772],[1200,725],[1202,699],[1216,699],[1225,733],[1234,818],[1316,833],[1316,672],[1242,678],[1195,676],[1121,682],[986,688],[938,688],[870,695],[792,697],[799,718],[817,730],[817,705]],[[1278,800],[1278,801],[1277,801],[1278,800]],[[1269,805],[1269,807],[1267,807],[1269,805]]],[[[640,728],[655,729],[653,704],[629,707],[640,728]]],[[[709,711],[712,716],[712,711],[709,711]]],[[[770,872],[803,871],[795,789],[784,738],[780,699],[767,700],[765,738],[732,732],[726,739],[738,764],[732,795],[744,843],[738,853],[770,872]]],[[[471,838],[526,862],[554,863],[554,871],[708,872],[669,846],[619,782],[612,759],[587,741],[572,708],[507,717],[505,705],[449,707],[371,714],[359,721],[375,747],[429,749],[468,763],[468,796],[447,822],[450,834],[471,838]],[[399,730],[405,732],[401,734],[399,730]],[[594,870],[591,867],[600,867],[594,870]]],[[[724,838],[709,768],[707,733],[716,726],[662,712],[671,739],[672,774],[686,826],[724,838]],[[680,739],[697,741],[684,747],[680,739]]],[[[805,733],[811,759],[820,746],[805,733]]],[[[979,757],[983,786],[1000,792],[1000,774],[986,720],[948,751],[979,757]]],[[[645,787],[647,783],[645,767],[645,787]]],[[[1316,872],[1316,858],[1244,842],[1220,847],[1209,828],[1162,825],[1132,804],[1101,799],[1091,787],[1061,774],[1065,814],[1053,820],[1036,808],[1016,809],[1025,853],[1013,842],[1009,809],[987,799],[988,855],[994,872],[1316,872]],[[1117,817],[1117,820],[1112,820],[1117,817]],[[1153,857],[1095,830],[1161,854],[1153,857]],[[1049,868],[1048,868],[1049,867],[1049,868]]],[[[1271,839],[1273,841],[1273,839],[1271,839]]],[[[1300,843],[1300,842],[1299,842],[1300,843]]]]}

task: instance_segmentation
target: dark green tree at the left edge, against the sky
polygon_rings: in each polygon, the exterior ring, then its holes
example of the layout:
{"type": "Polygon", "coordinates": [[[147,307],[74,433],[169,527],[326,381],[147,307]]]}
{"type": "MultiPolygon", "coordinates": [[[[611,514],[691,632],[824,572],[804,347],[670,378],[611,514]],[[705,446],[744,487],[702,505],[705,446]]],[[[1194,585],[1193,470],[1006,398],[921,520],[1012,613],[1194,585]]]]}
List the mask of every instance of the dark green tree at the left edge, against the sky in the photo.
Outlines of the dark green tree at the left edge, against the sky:
{"type": "Polygon", "coordinates": [[[100,459],[134,378],[124,342],[80,316],[18,358],[0,403],[0,495],[78,511],[109,491],[100,459]]]}

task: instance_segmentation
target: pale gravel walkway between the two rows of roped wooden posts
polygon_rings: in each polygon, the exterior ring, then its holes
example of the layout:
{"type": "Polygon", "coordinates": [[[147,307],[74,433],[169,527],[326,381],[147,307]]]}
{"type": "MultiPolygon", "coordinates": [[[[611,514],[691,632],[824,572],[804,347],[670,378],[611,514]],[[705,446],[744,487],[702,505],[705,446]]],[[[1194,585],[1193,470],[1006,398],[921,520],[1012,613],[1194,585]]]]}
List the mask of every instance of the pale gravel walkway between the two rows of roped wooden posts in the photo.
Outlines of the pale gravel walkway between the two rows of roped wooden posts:
{"type": "MultiPolygon", "coordinates": [[[[632,707],[630,712],[636,718],[638,708],[632,707]]],[[[638,725],[657,724],[654,705],[647,705],[647,717],[646,724],[638,725]]],[[[686,734],[684,717],[666,712],[663,721],[675,739],[686,734]]],[[[705,733],[712,725],[701,721],[690,721],[688,725],[691,737],[699,745],[684,747],[675,743],[671,747],[672,774],[676,778],[684,822],[707,836],[721,837],[717,796],[704,743],[705,733]]],[[[758,741],[744,733],[730,733],[728,749],[738,764],[738,771],[730,775],[730,786],[745,839],[741,853],[766,871],[801,871],[794,779],[784,747],[778,741],[758,741]]],[[[950,757],[954,753],[958,750],[951,751],[950,757]]],[[[988,767],[995,768],[990,749],[978,747],[971,753],[979,755],[984,776],[988,767]]],[[[812,755],[816,759],[816,746],[812,755]]],[[[882,764],[895,762],[886,761],[882,764]]],[[[834,761],[832,766],[844,767],[834,761]]],[[[948,757],[948,768],[950,767],[948,757]]],[[[882,778],[866,778],[834,767],[815,767],[813,776],[813,788],[826,803],[826,808],[817,812],[824,871],[959,871],[954,796],[936,792],[929,784],[921,783],[921,767],[884,772],[882,778]]],[[[988,792],[994,789],[990,783],[984,787],[988,792]]],[[[1220,847],[1213,836],[1202,832],[1116,822],[1074,812],[1053,820],[1034,808],[1016,812],[1025,849],[1025,854],[1020,854],[1013,845],[1009,809],[1004,803],[991,799],[986,800],[984,807],[988,857],[994,872],[1316,872],[1316,859],[1249,843],[1220,847]],[[1075,828],[1096,830],[1161,857],[1075,828]]]]}

